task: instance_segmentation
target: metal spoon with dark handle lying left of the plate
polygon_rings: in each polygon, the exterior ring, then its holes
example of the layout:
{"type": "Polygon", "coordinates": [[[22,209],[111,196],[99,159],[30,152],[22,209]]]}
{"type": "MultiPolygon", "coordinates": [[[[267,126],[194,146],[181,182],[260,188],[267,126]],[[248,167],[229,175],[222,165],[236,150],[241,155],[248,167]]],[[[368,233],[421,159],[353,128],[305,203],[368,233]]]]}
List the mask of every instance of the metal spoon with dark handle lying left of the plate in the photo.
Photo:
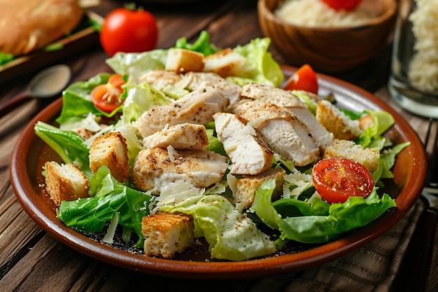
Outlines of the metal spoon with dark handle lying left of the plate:
{"type": "Polygon", "coordinates": [[[31,79],[23,95],[18,95],[0,105],[0,118],[31,98],[48,98],[59,94],[69,83],[70,67],[64,64],[49,67],[31,79]]]}

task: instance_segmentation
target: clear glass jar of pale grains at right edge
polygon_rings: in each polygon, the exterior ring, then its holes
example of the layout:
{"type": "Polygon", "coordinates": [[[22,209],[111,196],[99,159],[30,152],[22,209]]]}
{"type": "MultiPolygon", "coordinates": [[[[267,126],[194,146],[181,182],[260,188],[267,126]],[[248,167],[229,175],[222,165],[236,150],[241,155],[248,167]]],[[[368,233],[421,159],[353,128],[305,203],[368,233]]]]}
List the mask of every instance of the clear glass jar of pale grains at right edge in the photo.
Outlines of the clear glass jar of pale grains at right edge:
{"type": "Polygon", "coordinates": [[[391,95],[403,109],[438,118],[438,0],[400,0],[391,95]]]}

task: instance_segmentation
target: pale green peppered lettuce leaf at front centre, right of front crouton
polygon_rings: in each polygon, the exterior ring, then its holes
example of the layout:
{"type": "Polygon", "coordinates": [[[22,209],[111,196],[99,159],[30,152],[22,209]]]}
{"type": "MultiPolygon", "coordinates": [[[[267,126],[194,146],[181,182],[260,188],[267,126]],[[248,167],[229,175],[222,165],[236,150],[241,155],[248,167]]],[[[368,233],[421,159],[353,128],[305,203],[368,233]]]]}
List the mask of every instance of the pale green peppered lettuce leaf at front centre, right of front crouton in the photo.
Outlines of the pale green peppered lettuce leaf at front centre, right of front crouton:
{"type": "Polygon", "coordinates": [[[221,195],[190,197],[160,210],[191,214],[195,219],[195,234],[209,242],[212,258],[246,260],[276,251],[274,242],[221,195]]]}

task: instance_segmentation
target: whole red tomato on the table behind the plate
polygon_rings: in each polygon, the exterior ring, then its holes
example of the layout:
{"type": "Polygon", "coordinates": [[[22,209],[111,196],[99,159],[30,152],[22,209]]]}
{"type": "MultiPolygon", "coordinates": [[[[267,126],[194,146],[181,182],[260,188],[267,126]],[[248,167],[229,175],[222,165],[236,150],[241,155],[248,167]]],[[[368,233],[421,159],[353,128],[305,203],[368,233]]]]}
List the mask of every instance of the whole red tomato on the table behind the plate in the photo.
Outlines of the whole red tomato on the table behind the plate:
{"type": "Polygon", "coordinates": [[[100,32],[100,42],[106,54],[140,53],[157,46],[157,22],[143,10],[117,8],[106,15],[100,32]]]}

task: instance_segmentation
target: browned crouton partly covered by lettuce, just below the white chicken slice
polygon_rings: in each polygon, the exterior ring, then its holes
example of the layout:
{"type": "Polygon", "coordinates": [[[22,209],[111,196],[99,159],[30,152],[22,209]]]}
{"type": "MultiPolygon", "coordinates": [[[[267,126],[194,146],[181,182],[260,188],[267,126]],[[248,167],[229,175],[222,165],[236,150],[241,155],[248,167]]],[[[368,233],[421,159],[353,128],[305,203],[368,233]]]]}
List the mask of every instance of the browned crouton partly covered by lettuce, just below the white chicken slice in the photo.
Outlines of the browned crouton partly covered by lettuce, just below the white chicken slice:
{"type": "Polygon", "coordinates": [[[264,181],[275,179],[276,188],[272,193],[272,200],[277,200],[283,192],[283,183],[286,172],[280,168],[270,168],[255,176],[246,175],[237,180],[236,191],[233,194],[236,204],[241,204],[243,209],[251,207],[254,202],[255,192],[264,181]]]}

